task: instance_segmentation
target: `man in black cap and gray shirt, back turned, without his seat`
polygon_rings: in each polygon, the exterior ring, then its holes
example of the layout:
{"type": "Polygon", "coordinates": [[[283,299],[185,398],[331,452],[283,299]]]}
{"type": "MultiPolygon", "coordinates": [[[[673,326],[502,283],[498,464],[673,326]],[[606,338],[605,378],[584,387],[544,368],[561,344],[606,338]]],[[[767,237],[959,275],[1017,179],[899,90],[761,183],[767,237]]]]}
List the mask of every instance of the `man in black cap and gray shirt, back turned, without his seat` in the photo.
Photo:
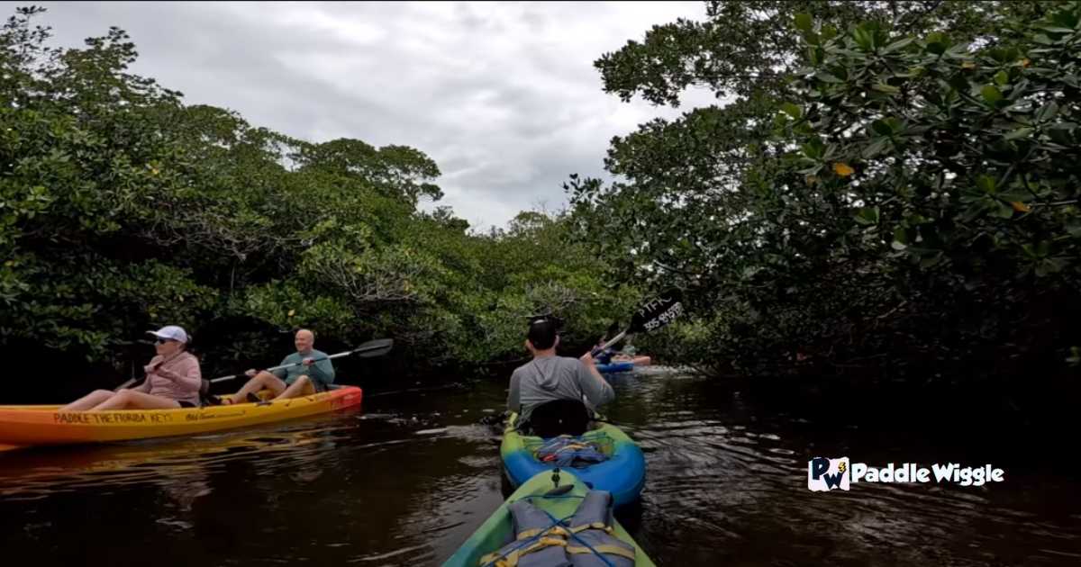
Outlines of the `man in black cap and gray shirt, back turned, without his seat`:
{"type": "MultiPolygon", "coordinates": [[[[580,359],[557,356],[558,345],[553,320],[538,319],[530,324],[525,348],[533,360],[515,369],[507,393],[507,408],[519,414],[519,423],[529,422],[534,409],[550,402],[563,402],[564,406],[566,402],[585,403],[596,409],[615,399],[590,353],[580,359]]],[[[557,406],[560,404],[549,407],[557,406]]]]}

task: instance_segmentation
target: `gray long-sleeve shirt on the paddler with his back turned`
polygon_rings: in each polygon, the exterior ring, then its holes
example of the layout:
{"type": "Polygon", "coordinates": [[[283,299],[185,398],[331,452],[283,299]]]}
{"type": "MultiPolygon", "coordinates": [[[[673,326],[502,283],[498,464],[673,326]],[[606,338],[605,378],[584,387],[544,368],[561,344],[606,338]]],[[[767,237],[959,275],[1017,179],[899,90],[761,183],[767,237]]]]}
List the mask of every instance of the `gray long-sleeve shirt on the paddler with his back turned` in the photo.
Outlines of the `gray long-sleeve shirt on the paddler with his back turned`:
{"type": "Polygon", "coordinates": [[[568,356],[540,356],[515,368],[510,375],[507,408],[518,411],[521,422],[545,402],[583,400],[596,409],[614,399],[612,387],[593,376],[586,363],[568,356]]]}

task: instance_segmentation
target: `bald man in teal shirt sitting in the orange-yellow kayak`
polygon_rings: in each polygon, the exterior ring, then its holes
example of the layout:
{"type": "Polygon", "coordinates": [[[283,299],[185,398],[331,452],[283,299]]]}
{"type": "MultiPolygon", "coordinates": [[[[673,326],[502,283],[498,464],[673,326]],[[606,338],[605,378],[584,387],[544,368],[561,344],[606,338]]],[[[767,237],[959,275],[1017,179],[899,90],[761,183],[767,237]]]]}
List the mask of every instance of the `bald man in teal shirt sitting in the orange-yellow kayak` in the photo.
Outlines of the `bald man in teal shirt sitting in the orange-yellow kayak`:
{"type": "MultiPolygon", "coordinates": [[[[242,403],[250,395],[264,388],[270,390],[275,400],[325,392],[334,383],[334,365],[331,364],[325,352],[312,348],[315,343],[316,336],[310,330],[306,328],[297,330],[296,352],[282,359],[279,365],[293,364],[295,366],[279,368],[272,373],[255,372],[254,368],[248,370],[246,374],[252,379],[248,380],[248,383],[232,396],[231,403],[242,403]]],[[[228,399],[224,397],[223,401],[225,400],[228,399]]]]}

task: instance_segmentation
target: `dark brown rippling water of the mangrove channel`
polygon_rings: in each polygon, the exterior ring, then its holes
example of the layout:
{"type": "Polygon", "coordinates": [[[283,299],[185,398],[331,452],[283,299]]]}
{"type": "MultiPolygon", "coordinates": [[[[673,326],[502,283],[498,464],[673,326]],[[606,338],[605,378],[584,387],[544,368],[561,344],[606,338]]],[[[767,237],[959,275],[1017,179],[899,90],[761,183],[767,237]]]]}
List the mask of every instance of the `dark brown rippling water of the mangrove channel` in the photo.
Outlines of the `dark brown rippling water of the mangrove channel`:
{"type": "MultiPolygon", "coordinates": [[[[771,415],[678,373],[612,381],[609,415],[648,459],[642,502],[619,518],[658,565],[1081,564],[1077,473],[771,415]],[[990,461],[1006,481],[811,492],[813,455],[990,461]]],[[[438,565],[503,500],[480,418],[502,410],[504,388],[370,391],[362,410],[277,427],[0,454],[3,552],[66,566],[438,565]]]]}

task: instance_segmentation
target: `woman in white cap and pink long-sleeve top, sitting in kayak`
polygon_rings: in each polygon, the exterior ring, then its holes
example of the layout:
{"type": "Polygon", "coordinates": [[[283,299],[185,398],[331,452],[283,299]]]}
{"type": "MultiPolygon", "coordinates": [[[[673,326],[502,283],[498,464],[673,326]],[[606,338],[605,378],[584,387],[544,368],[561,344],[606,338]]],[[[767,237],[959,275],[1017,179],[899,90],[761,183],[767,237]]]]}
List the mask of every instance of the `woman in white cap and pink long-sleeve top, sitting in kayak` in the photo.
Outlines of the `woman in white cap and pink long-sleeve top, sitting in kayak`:
{"type": "Polygon", "coordinates": [[[188,334],[176,325],[148,330],[158,338],[158,355],[143,367],[146,380],[131,390],[95,390],[62,407],[61,411],[106,409],[169,409],[198,407],[202,372],[199,359],[187,351],[188,334]]]}

